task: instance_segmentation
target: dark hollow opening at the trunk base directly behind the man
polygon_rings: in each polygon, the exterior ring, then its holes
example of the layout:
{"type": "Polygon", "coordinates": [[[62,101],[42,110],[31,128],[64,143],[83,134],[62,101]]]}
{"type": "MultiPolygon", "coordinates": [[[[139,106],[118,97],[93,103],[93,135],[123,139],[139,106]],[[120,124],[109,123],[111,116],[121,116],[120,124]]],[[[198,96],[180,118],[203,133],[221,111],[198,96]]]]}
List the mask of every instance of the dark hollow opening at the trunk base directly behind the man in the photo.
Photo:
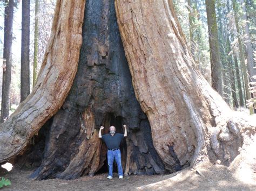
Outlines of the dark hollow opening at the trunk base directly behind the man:
{"type": "MultiPolygon", "coordinates": [[[[105,135],[106,133],[109,133],[109,128],[112,125],[116,127],[116,133],[124,133],[122,122],[123,122],[122,116],[114,116],[113,113],[107,113],[105,115],[105,118],[102,124],[104,126],[103,135],[105,135]]],[[[121,151],[122,166],[123,166],[123,172],[124,172],[125,164],[126,164],[126,156],[127,156],[127,147],[126,147],[125,138],[122,140],[120,144],[120,151],[121,151]]],[[[100,161],[102,161],[100,162],[101,167],[97,171],[97,174],[109,172],[109,169],[107,166],[107,147],[105,143],[102,144],[102,148],[100,150],[100,161]]],[[[113,163],[113,173],[115,172],[116,173],[118,172],[116,161],[114,161],[113,163]]]]}

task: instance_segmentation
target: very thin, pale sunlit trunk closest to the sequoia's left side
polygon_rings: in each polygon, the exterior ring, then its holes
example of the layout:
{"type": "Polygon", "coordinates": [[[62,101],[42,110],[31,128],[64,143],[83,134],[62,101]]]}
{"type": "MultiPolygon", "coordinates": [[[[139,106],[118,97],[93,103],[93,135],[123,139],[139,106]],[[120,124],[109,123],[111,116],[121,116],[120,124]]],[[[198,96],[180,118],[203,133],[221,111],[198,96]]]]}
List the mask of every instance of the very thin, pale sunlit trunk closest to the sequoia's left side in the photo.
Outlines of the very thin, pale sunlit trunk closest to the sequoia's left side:
{"type": "Polygon", "coordinates": [[[39,0],[36,0],[35,6],[35,33],[34,33],[34,58],[33,58],[33,87],[36,84],[37,79],[37,57],[38,57],[38,10],[39,0]]]}

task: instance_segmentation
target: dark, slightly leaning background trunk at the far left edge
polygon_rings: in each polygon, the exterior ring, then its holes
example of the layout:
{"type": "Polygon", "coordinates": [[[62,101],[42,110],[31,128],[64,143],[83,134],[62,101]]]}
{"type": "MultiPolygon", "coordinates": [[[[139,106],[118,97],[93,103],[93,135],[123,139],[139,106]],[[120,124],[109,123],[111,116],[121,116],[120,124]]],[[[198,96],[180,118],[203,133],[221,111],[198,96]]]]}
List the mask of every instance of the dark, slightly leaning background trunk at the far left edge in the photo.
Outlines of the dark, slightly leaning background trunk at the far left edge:
{"type": "Polygon", "coordinates": [[[11,45],[12,23],[14,20],[14,0],[5,1],[4,9],[4,54],[5,66],[3,66],[3,85],[1,103],[1,122],[9,117],[10,88],[11,88],[11,45]]]}

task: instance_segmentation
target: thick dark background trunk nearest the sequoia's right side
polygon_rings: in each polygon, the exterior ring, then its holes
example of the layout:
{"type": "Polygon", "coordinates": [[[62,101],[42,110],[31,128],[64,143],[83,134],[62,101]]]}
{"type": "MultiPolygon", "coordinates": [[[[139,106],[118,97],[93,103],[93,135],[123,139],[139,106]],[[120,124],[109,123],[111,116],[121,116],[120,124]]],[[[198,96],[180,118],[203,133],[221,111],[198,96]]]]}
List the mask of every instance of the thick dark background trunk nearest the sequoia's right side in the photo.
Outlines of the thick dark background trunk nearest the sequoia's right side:
{"type": "Polygon", "coordinates": [[[223,96],[222,64],[220,61],[220,48],[218,41],[218,27],[215,13],[215,0],[206,0],[207,23],[210,44],[212,87],[223,96]]]}

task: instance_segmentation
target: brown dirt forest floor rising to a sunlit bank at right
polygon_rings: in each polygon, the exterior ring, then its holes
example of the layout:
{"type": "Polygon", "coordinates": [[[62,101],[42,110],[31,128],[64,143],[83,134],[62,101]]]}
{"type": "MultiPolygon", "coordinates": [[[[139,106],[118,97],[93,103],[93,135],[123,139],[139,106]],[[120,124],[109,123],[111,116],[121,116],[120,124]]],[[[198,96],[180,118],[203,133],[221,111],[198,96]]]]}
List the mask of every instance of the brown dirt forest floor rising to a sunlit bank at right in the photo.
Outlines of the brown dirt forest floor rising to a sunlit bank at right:
{"type": "MultiPolygon", "coordinates": [[[[11,185],[2,190],[256,190],[256,136],[244,140],[240,155],[229,167],[203,163],[195,168],[165,175],[130,175],[119,180],[107,173],[76,180],[28,179],[32,171],[14,168],[4,177],[11,185]]],[[[1,190],[1,189],[0,189],[1,190]]]]}

